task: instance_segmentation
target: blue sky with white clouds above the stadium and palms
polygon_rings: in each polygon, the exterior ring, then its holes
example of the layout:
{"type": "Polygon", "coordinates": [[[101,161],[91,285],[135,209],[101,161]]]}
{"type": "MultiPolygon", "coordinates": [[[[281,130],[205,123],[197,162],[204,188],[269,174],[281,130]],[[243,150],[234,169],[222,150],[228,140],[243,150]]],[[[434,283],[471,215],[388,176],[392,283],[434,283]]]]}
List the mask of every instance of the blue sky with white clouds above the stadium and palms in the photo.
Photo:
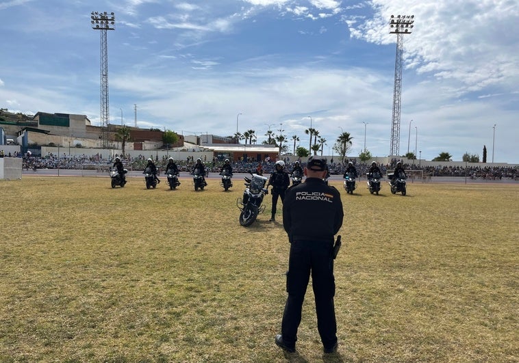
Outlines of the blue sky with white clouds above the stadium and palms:
{"type": "Polygon", "coordinates": [[[396,35],[404,36],[399,154],[519,163],[518,0],[0,0],[0,107],[99,125],[107,32],[110,123],[181,135],[310,126],[333,155],[390,154],[396,35]],[[335,152],[336,154],[336,152],[335,152]]]}

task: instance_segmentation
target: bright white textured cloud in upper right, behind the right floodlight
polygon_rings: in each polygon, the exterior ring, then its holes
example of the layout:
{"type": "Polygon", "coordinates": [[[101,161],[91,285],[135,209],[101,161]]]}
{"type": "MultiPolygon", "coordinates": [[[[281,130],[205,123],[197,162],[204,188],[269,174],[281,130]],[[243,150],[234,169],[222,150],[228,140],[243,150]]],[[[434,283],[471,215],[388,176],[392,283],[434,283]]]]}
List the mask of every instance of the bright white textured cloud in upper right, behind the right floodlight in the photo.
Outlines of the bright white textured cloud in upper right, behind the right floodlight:
{"type": "MultiPolygon", "coordinates": [[[[368,42],[390,44],[391,14],[401,14],[394,1],[375,0],[375,16],[359,23],[349,18],[351,35],[368,42]]],[[[519,39],[513,29],[519,18],[514,1],[407,1],[405,15],[414,14],[413,33],[405,38],[405,58],[419,74],[453,79],[459,92],[489,85],[514,88],[519,78],[519,39]],[[470,60],[468,60],[470,59],[470,60]]]]}

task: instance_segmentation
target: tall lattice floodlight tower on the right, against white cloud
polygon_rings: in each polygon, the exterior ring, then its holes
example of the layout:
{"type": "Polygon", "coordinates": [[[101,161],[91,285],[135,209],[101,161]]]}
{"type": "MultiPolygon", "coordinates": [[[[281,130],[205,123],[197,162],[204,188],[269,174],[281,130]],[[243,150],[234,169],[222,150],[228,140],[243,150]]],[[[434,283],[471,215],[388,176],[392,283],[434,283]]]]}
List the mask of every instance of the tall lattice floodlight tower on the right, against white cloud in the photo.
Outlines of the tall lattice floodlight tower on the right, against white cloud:
{"type": "Polygon", "coordinates": [[[400,105],[402,90],[403,43],[404,35],[412,32],[413,23],[414,15],[392,15],[390,18],[390,34],[396,34],[390,156],[400,155],[400,105]]]}

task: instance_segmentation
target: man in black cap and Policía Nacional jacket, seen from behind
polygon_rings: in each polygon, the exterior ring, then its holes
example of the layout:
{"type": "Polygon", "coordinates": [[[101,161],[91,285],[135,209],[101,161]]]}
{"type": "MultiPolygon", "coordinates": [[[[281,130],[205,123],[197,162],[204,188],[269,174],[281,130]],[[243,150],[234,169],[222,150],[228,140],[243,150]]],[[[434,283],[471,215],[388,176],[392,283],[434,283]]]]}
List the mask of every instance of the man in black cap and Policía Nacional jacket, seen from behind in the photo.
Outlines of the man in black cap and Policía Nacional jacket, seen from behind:
{"type": "Polygon", "coordinates": [[[340,193],[325,184],[326,159],[310,157],[305,167],[305,183],[290,187],[283,201],[283,228],[290,241],[286,288],[288,298],[283,312],[278,347],[296,350],[301,309],[312,273],[317,327],[325,353],[337,350],[337,323],[333,296],[333,236],[340,230],[344,212],[340,193]]]}

